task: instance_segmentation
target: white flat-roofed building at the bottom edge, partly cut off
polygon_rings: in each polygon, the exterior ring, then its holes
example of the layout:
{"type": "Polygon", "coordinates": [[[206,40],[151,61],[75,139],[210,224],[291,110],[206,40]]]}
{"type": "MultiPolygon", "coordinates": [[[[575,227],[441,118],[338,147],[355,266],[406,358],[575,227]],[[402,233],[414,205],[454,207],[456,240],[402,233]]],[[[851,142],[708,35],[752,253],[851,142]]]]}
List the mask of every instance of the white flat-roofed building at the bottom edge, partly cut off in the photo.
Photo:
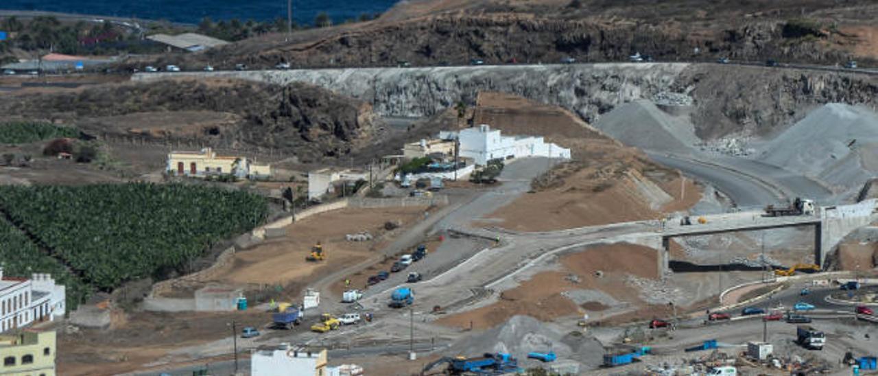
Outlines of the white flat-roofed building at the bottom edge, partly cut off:
{"type": "Polygon", "coordinates": [[[327,351],[306,351],[281,343],[273,349],[257,350],[250,357],[253,376],[328,376],[327,351]]]}

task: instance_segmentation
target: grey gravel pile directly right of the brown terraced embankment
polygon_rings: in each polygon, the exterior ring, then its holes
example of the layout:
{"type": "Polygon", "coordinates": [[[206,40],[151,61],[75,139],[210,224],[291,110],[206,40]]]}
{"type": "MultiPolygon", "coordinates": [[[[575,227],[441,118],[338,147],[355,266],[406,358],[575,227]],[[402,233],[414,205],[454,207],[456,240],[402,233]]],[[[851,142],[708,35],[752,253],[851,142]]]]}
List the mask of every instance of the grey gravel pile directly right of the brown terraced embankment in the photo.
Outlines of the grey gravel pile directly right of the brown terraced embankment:
{"type": "Polygon", "coordinates": [[[674,118],[644,99],[616,107],[594,126],[626,145],[646,150],[685,155],[700,141],[692,123],[674,118]]]}

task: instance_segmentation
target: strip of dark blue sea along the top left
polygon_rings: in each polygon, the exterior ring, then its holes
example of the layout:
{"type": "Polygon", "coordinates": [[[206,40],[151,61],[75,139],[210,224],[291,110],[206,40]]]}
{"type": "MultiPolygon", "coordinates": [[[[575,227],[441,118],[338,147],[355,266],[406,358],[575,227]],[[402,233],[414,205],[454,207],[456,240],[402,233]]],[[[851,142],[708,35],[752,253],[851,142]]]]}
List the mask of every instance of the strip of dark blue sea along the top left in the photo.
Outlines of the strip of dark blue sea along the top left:
{"type": "MultiPolygon", "coordinates": [[[[299,25],[311,25],[321,11],[335,23],[360,14],[380,13],[399,0],[293,0],[292,14],[299,25]]],[[[239,18],[268,21],[286,19],[286,0],[2,0],[0,9],[13,11],[60,11],[101,16],[164,19],[198,24],[239,18]]]]}

